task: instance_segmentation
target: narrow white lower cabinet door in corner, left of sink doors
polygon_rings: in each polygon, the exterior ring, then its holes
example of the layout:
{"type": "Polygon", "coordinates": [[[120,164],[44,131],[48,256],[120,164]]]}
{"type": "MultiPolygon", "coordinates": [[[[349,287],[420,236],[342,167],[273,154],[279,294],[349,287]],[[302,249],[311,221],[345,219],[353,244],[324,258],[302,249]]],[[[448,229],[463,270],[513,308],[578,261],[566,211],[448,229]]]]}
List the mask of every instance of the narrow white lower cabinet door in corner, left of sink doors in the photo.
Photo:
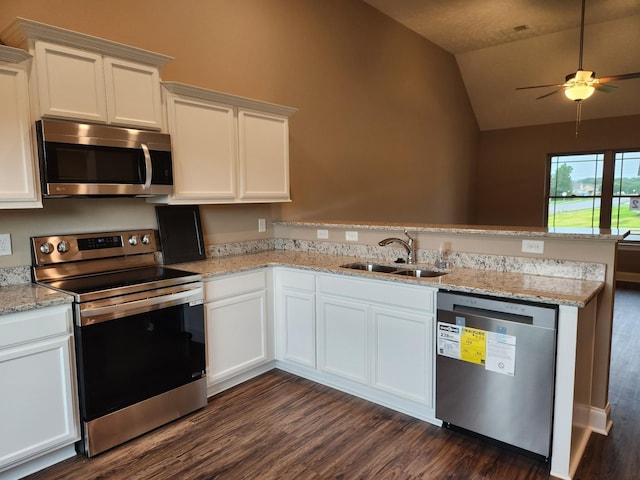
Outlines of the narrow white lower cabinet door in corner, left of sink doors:
{"type": "Polygon", "coordinates": [[[316,367],[315,295],[283,289],[278,315],[278,359],[316,367]]]}

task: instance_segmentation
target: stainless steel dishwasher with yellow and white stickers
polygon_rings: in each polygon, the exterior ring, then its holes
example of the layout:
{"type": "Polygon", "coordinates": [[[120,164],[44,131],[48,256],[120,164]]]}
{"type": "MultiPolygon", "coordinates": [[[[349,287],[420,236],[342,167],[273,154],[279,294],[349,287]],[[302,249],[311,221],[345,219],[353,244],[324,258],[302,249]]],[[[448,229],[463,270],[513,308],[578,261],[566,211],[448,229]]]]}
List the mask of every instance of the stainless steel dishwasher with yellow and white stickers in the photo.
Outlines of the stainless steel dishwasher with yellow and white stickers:
{"type": "Polygon", "coordinates": [[[558,307],[439,292],[436,417],[548,460],[558,307]]]}

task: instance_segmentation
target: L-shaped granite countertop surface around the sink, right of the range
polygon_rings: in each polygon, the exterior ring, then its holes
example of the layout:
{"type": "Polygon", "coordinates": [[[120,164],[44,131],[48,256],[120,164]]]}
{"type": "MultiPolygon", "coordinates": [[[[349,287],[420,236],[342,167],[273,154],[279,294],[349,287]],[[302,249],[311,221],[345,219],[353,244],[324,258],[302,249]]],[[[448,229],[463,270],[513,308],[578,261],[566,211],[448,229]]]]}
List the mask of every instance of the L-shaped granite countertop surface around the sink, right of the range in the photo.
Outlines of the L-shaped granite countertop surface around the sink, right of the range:
{"type": "Polygon", "coordinates": [[[340,273],[354,277],[376,278],[390,282],[419,284],[460,292],[575,307],[584,307],[604,287],[604,282],[599,281],[505,273],[493,270],[452,268],[450,273],[440,277],[411,278],[340,267],[340,265],[363,260],[388,263],[379,259],[275,250],[248,255],[210,258],[199,262],[176,264],[172,265],[172,267],[200,273],[205,280],[218,275],[237,273],[260,267],[294,267],[317,272],[340,273]]]}

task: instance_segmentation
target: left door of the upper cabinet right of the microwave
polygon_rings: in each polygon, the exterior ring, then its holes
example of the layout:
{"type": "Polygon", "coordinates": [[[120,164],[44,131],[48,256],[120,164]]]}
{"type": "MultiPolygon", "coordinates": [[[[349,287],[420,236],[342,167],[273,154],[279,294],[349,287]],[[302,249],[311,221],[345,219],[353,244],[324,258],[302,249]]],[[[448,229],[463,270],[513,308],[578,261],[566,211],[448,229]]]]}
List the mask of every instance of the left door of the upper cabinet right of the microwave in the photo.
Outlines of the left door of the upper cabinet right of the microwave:
{"type": "Polygon", "coordinates": [[[234,200],[237,160],[234,107],[170,95],[167,111],[174,166],[172,203],[234,200]]]}

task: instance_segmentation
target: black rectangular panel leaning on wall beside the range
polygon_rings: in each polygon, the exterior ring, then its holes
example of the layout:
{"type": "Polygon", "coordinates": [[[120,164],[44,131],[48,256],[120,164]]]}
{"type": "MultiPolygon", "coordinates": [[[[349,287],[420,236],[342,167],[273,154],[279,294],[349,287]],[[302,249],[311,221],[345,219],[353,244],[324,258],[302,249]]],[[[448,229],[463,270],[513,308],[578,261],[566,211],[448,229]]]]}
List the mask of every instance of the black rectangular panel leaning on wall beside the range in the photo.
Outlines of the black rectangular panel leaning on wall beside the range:
{"type": "Polygon", "coordinates": [[[197,205],[158,206],[156,217],[165,264],[206,258],[197,205]]]}

